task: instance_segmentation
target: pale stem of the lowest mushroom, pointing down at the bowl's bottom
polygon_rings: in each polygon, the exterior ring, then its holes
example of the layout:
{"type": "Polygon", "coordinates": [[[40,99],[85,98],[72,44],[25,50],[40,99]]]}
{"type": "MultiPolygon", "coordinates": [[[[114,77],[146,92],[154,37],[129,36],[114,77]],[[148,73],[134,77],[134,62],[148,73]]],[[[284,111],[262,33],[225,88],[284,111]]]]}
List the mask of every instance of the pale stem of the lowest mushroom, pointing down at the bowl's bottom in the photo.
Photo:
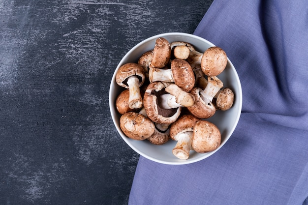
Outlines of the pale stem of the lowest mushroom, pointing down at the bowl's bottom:
{"type": "Polygon", "coordinates": [[[188,159],[191,147],[191,136],[192,131],[181,133],[178,136],[178,142],[172,150],[174,156],[178,157],[179,159],[188,159]]]}

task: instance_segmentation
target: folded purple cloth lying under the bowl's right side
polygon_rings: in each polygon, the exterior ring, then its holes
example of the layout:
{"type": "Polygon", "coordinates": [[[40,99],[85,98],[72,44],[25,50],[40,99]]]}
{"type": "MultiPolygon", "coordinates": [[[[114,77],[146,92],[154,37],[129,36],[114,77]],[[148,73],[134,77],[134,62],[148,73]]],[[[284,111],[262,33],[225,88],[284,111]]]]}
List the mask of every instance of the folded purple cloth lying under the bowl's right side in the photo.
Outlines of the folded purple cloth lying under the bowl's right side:
{"type": "Polygon", "coordinates": [[[140,157],[129,205],[302,205],[308,197],[308,1],[215,0],[195,35],[243,88],[229,141],[197,163],[140,157]]]}

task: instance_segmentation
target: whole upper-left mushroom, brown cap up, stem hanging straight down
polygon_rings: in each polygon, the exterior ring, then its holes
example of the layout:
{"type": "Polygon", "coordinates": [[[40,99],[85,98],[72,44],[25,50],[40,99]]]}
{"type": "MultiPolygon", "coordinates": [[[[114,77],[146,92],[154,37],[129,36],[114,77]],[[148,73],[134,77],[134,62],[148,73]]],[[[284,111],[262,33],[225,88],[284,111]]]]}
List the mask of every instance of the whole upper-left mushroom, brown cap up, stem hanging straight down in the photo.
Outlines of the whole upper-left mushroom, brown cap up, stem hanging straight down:
{"type": "Polygon", "coordinates": [[[137,109],[142,107],[142,97],[139,87],[145,81],[144,70],[141,65],[129,62],[123,64],[117,74],[116,82],[119,86],[129,89],[129,102],[130,109],[137,109]]]}

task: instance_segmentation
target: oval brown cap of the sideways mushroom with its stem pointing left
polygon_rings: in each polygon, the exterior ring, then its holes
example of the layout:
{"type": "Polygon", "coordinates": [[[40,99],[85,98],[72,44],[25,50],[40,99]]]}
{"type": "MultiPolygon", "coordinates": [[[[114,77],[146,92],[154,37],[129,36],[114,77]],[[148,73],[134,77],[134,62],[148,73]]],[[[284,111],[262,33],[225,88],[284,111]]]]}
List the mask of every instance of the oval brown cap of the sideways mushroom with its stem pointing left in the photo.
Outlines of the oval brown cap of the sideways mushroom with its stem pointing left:
{"type": "Polygon", "coordinates": [[[195,75],[190,64],[183,59],[173,59],[170,68],[174,83],[189,92],[195,85],[195,75]]]}

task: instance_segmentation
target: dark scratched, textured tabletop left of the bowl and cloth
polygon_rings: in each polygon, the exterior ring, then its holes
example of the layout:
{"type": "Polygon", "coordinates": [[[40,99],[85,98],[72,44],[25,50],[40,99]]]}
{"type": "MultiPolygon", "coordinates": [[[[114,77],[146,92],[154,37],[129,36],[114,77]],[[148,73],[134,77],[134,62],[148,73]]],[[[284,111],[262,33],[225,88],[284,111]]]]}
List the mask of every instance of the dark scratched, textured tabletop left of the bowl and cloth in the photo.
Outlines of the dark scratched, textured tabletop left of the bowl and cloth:
{"type": "Polygon", "coordinates": [[[0,205],[124,205],[139,155],[109,113],[124,54],[212,0],[0,0],[0,205]]]}

